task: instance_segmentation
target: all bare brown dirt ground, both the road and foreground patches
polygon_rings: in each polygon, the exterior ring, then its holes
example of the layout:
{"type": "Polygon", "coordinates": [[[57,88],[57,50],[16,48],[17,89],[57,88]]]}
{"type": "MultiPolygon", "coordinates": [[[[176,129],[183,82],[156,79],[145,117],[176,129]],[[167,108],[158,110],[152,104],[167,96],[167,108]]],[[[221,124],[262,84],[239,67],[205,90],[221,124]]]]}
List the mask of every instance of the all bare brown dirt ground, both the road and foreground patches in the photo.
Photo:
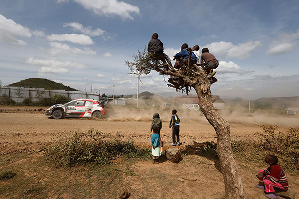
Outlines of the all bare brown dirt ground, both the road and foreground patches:
{"type": "MultiPolygon", "coordinates": [[[[5,159],[5,154],[42,153],[41,148],[57,141],[57,135],[61,132],[71,133],[78,130],[86,131],[91,128],[149,147],[152,114],[157,112],[157,110],[116,106],[108,108],[108,114],[101,120],[90,118],[55,120],[44,115],[46,107],[42,107],[42,111],[38,111],[38,108],[40,107],[0,106],[1,160],[5,159]]],[[[171,113],[169,111],[158,112],[162,119],[161,138],[164,141],[164,149],[167,149],[171,147],[171,129],[168,128],[171,113]]],[[[182,145],[176,146],[177,148],[183,149],[193,141],[216,142],[215,131],[204,116],[196,111],[181,111],[177,114],[181,119],[180,140],[182,142],[182,145]]],[[[230,115],[223,115],[223,117],[230,123],[231,137],[235,140],[258,139],[258,132],[262,132],[260,128],[262,124],[277,124],[280,127],[279,130],[283,132],[288,127],[299,127],[299,118],[293,116],[244,115],[232,112],[230,115]]],[[[263,163],[263,160],[261,160],[260,165],[241,161],[237,161],[237,163],[240,166],[248,198],[264,199],[263,192],[255,188],[258,183],[255,175],[259,168],[265,168],[267,165],[263,163]]],[[[137,176],[127,177],[126,182],[132,193],[130,198],[133,199],[142,198],[141,196],[166,199],[221,199],[225,195],[219,162],[206,157],[186,156],[178,164],[163,161],[158,165],[152,165],[150,161],[140,161],[131,169],[137,176]],[[185,180],[179,180],[182,178],[185,180]],[[168,181],[165,182],[165,180],[168,181]],[[154,183],[155,187],[152,188],[154,193],[145,189],[148,186],[145,183],[152,182],[156,182],[154,183]]],[[[299,175],[293,173],[287,173],[287,175],[291,189],[295,193],[299,193],[299,175]]],[[[72,198],[68,195],[63,197],[64,199],[72,198]]]]}

